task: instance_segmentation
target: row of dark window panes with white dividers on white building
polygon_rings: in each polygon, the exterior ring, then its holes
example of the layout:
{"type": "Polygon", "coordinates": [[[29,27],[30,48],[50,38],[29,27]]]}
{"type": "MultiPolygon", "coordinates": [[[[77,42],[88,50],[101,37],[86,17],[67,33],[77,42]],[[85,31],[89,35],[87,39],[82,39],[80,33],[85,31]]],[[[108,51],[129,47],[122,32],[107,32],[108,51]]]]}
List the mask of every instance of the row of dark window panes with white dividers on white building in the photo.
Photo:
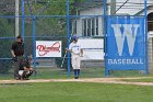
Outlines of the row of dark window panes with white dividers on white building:
{"type": "Polygon", "coordinates": [[[98,18],[82,20],[82,35],[97,36],[98,35],[98,18]]]}

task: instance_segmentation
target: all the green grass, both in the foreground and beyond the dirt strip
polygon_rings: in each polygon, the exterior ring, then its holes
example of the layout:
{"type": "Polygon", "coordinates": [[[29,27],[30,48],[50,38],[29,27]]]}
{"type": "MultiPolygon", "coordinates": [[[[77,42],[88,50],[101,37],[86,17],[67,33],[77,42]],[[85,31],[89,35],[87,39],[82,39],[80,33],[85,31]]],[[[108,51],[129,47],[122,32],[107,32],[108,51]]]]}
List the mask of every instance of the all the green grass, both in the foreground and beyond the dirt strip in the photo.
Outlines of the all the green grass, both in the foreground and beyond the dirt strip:
{"type": "MultiPolygon", "coordinates": [[[[139,71],[111,71],[109,77],[148,77],[139,71]]],[[[39,68],[31,79],[72,79],[66,70],[39,68]]],[[[105,78],[104,68],[84,68],[81,78],[105,78]]],[[[13,79],[13,73],[1,73],[0,80],[13,79]]],[[[153,82],[153,79],[123,79],[122,81],[153,82]]],[[[153,87],[90,83],[38,82],[0,83],[0,102],[152,102],[153,87]]]]}

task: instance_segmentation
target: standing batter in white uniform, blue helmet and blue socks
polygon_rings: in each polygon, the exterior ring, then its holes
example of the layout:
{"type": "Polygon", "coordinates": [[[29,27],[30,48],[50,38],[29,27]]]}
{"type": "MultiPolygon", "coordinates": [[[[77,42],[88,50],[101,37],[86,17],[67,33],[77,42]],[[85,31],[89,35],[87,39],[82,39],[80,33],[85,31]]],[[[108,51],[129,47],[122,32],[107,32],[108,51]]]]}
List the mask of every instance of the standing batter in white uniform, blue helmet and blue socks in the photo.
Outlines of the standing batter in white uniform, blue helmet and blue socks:
{"type": "Polygon", "coordinates": [[[80,77],[80,59],[83,56],[83,49],[81,44],[78,42],[78,36],[72,36],[72,43],[69,45],[69,49],[66,50],[71,53],[71,64],[74,71],[74,79],[80,77]]]}

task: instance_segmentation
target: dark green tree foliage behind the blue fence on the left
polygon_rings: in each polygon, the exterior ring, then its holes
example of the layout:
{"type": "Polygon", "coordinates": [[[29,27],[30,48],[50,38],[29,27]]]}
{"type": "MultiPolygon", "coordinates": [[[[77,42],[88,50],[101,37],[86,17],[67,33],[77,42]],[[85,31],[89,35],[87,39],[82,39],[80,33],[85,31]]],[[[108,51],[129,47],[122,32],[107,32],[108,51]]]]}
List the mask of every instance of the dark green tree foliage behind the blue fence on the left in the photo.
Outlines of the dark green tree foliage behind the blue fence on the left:
{"type": "MultiPolygon", "coordinates": [[[[54,39],[61,39],[63,43],[62,50],[67,47],[67,20],[66,20],[66,1],[67,0],[37,0],[37,2],[33,2],[33,0],[28,0],[31,3],[28,4],[27,1],[25,1],[25,15],[57,15],[54,18],[40,18],[36,16],[36,36],[62,36],[62,38],[57,37],[54,39]]],[[[70,1],[70,10],[69,12],[73,14],[74,12],[74,2],[82,2],[84,0],[69,0],[70,1]]],[[[8,1],[7,4],[12,3],[12,0],[8,1]]],[[[13,1],[14,2],[14,1],[13,1]]],[[[11,7],[13,8],[13,7],[11,7]]],[[[22,9],[20,4],[20,15],[22,14],[22,9]]],[[[1,12],[1,15],[14,15],[14,11],[7,11],[1,12]]],[[[20,25],[21,25],[21,19],[20,19],[20,25]]],[[[0,37],[13,37],[14,34],[14,26],[15,26],[15,20],[12,18],[2,18],[0,19],[0,37]]],[[[27,54],[33,53],[33,18],[26,18],[25,16],[25,50],[27,54]]],[[[20,34],[22,33],[22,26],[20,26],[20,34]]],[[[38,39],[38,38],[37,38],[38,39]]],[[[50,39],[48,37],[44,37],[42,39],[50,39]]],[[[8,52],[2,50],[0,54],[4,57],[11,57],[10,55],[10,47],[12,41],[9,41],[8,43],[0,41],[1,46],[9,46],[7,48],[8,52]]],[[[3,48],[1,48],[3,49],[3,48]]],[[[62,56],[64,55],[64,52],[62,52],[62,56]]],[[[1,57],[2,57],[1,56],[1,57]]],[[[56,63],[58,66],[61,65],[62,58],[57,58],[56,63]]],[[[67,60],[66,60],[67,63],[67,60]]],[[[67,67],[67,66],[64,66],[67,67]]],[[[7,71],[5,69],[10,69],[11,64],[7,65],[3,60],[0,63],[0,70],[1,72],[7,71]],[[2,71],[3,70],[3,71],[2,71]]]]}

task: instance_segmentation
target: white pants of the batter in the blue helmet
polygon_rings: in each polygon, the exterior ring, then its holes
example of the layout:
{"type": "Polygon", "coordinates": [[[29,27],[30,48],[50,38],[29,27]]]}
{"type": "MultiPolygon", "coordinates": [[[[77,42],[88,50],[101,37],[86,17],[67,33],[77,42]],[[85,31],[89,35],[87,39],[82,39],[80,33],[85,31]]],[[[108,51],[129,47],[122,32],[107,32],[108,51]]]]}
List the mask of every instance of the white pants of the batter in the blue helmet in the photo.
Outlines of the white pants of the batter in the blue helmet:
{"type": "Polygon", "coordinates": [[[79,55],[73,55],[71,63],[72,63],[72,67],[73,69],[80,69],[80,56],[79,55]]]}

